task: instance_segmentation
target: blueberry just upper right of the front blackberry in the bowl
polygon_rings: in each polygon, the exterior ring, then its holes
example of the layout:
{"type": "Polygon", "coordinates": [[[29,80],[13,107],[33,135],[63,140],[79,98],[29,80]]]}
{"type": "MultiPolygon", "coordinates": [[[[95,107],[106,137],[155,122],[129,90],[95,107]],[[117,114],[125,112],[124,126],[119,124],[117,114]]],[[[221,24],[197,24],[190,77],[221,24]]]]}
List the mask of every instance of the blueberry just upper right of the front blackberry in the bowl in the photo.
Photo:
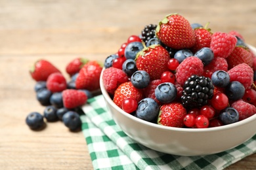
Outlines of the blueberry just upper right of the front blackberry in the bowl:
{"type": "Polygon", "coordinates": [[[226,71],[219,70],[219,71],[215,71],[213,75],[211,75],[211,80],[213,82],[213,85],[220,88],[224,88],[228,86],[230,82],[230,77],[228,73],[226,73],[226,71]]]}

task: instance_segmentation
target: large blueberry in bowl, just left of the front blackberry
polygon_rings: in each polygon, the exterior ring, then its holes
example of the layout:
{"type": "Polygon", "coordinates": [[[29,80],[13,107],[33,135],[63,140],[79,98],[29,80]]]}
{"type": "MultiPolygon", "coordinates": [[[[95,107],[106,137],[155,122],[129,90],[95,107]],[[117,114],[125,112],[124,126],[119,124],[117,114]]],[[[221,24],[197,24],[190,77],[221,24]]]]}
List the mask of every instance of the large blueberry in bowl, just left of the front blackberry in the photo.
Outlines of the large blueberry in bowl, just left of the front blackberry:
{"type": "Polygon", "coordinates": [[[177,88],[171,82],[163,82],[156,87],[155,95],[161,103],[170,103],[177,95],[177,88]]]}

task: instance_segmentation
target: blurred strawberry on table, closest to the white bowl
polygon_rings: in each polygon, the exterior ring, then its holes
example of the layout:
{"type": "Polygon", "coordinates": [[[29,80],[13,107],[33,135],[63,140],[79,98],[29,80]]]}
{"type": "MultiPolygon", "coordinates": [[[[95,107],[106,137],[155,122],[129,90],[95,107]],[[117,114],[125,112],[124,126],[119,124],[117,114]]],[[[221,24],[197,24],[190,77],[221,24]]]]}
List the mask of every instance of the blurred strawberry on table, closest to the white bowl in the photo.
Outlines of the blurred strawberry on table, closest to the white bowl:
{"type": "Polygon", "coordinates": [[[100,73],[102,66],[97,61],[89,61],[78,73],[75,80],[75,88],[86,90],[98,90],[100,88],[100,73]]]}

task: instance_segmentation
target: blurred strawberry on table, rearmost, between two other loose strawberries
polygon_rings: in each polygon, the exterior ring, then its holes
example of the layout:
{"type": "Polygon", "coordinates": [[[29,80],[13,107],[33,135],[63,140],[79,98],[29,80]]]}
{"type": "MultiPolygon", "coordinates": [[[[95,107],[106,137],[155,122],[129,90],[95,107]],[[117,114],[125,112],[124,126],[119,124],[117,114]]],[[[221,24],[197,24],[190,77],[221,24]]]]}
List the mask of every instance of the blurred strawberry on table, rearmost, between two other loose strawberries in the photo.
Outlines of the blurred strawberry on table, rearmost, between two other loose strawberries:
{"type": "Polygon", "coordinates": [[[66,66],[66,72],[68,75],[72,76],[75,73],[78,73],[80,69],[88,62],[88,59],[85,58],[75,58],[66,66]]]}

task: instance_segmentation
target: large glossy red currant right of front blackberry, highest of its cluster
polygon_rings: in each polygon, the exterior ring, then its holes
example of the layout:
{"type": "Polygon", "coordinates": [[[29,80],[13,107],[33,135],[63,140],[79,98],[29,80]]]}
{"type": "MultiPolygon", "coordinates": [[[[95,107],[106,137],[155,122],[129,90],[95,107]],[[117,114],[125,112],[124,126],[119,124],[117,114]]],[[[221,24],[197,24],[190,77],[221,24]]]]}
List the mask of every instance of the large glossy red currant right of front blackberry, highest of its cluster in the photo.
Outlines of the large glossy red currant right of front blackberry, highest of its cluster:
{"type": "Polygon", "coordinates": [[[228,107],[228,97],[224,93],[215,93],[211,99],[211,106],[216,110],[228,107]]]}

